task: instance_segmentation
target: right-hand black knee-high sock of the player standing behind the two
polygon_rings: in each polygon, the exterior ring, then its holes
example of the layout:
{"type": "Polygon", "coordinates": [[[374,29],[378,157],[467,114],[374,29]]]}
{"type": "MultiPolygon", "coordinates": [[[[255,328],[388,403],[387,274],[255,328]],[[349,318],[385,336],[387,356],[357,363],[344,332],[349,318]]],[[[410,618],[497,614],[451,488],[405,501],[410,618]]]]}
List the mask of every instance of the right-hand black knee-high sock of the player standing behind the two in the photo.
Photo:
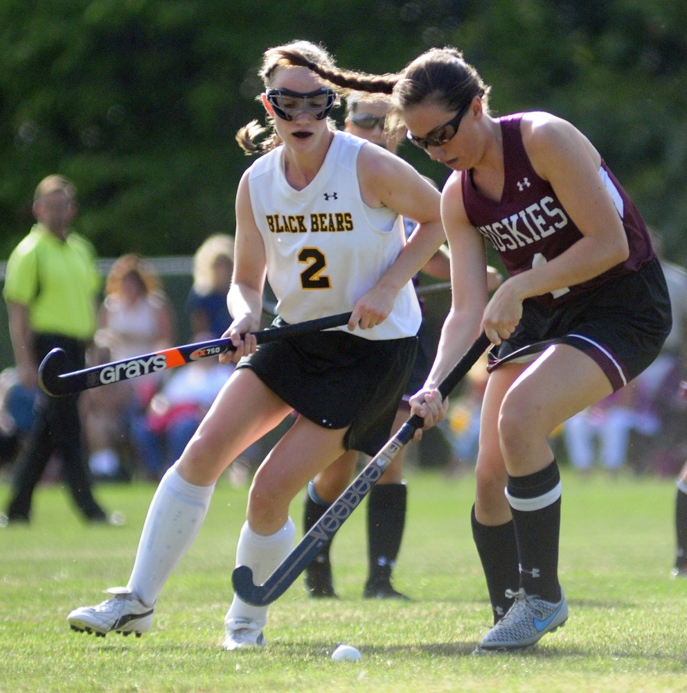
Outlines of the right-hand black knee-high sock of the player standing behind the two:
{"type": "Polygon", "coordinates": [[[407,493],[405,484],[382,484],[373,486],[370,491],[367,504],[368,583],[375,577],[391,577],[406,525],[407,493]]]}

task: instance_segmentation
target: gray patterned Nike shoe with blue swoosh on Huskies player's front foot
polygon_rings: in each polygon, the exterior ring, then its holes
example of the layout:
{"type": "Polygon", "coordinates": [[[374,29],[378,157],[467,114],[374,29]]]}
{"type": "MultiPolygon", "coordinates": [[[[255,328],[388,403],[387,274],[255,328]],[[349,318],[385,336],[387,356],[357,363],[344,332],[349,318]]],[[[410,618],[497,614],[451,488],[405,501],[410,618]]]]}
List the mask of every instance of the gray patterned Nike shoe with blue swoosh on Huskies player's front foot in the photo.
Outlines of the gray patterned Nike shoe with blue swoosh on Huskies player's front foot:
{"type": "Polygon", "coordinates": [[[525,590],[506,590],[515,602],[506,615],[482,638],[481,650],[510,650],[530,647],[545,633],[553,633],[568,618],[568,602],[561,591],[560,602],[527,595],[525,590]]]}

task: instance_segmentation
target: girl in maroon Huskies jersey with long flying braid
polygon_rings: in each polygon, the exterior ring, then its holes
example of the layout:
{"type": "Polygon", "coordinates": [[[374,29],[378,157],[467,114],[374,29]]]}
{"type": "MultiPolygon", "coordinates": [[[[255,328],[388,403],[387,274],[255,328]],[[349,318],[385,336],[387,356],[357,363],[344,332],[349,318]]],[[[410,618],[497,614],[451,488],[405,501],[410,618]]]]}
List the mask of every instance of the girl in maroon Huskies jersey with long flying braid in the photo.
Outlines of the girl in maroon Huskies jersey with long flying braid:
{"type": "Polygon", "coordinates": [[[492,117],[490,87],[454,49],[431,49],[391,76],[288,58],[341,87],[391,94],[389,127],[404,125],[454,171],[442,193],[453,303],[411,404],[425,428],[442,421],[436,387],[487,333],[472,529],[494,627],[480,649],[528,647],[568,615],[557,575],[560,474],[548,435],[641,373],[670,330],[645,224],[582,132],[543,112],[492,117]],[[485,238],[510,273],[491,299],[485,238]]]}

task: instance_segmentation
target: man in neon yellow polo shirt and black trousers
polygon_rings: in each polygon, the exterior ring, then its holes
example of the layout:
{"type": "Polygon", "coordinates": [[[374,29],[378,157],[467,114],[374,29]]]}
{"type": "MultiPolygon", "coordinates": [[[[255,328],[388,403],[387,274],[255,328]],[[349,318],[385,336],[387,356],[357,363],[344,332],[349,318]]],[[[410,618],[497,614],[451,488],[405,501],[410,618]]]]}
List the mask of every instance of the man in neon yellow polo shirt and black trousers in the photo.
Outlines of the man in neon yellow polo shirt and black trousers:
{"type": "MultiPolygon", "coordinates": [[[[84,368],[85,349],[96,326],[95,299],[100,285],[91,245],[70,233],[76,213],[75,188],[51,175],[36,188],[37,224],[10,255],[3,296],[19,381],[36,387],[38,365],[54,347],[64,349],[70,371],[84,368]]],[[[78,396],[39,395],[28,444],[15,467],[10,523],[28,522],[31,498],[53,452],[84,518],[106,522],[91,493],[82,449],[78,396]]]]}

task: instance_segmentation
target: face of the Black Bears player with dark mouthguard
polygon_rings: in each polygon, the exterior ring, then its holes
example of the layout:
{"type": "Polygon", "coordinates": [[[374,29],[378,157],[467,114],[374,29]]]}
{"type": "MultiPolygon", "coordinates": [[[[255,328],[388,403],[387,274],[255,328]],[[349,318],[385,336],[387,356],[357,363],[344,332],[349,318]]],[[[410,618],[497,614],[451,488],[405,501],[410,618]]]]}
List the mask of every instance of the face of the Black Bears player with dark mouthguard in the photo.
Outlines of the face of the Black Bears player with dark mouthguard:
{"type": "MultiPolygon", "coordinates": [[[[272,77],[269,89],[288,89],[296,94],[312,94],[326,87],[325,83],[307,67],[279,67],[272,77]]],[[[268,89],[268,91],[269,91],[268,89]]],[[[326,105],[327,96],[309,97],[308,109],[298,109],[303,100],[285,97],[285,105],[290,112],[296,112],[292,120],[281,118],[272,107],[267,96],[262,94],[262,104],[267,112],[274,117],[274,127],[282,139],[284,145],[296,152],[308,152],[314,149],[321,141],[329,137],[327,119],[317,120],[313,110],[319,105],[326,105]],[[321,102],[321,103],[320,103],[321,102]]]]}

